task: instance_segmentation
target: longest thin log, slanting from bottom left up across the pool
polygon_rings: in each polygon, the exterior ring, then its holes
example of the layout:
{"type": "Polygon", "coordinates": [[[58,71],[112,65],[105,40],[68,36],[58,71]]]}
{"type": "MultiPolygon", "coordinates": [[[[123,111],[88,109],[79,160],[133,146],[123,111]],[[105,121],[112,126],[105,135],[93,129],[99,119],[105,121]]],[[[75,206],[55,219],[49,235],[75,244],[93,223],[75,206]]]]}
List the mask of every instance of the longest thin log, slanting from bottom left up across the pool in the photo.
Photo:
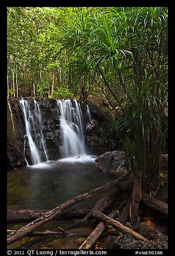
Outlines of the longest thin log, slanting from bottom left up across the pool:
{"type": "Polygon", "coordinates": [[[63,210],[68,209],[72,205],[75,205],[79,202],[82,202],[94,195],[99,194],[101,191],[107,190],[109,188],[112,188],[116,184],[118,184],[121,180],[123,180],[128,174],[124,174],[119,179],[111,181],[101,187],[98,187],[96,189],[93,189],[91,191],[88,191],[82,195],[79,195],[77,197],[72,198],[71,200],[61,204],[59,207],[54,208],[51,211],[46,212],[46,214],[42,215],[41,217],[35,219],[35,221],[25,225],[24,227],[21,227],[19,230],[12,234],[8,234],[7,244],[13,243],[13,241],[18,240],[19,238],[22,238],[26,236],[28,233],[32,232],[33,230],[37,229],[37,227],[41,226],[42,224],[50,221],[51,219],[55,218],[55,216],[59,215],[63,210]]]}

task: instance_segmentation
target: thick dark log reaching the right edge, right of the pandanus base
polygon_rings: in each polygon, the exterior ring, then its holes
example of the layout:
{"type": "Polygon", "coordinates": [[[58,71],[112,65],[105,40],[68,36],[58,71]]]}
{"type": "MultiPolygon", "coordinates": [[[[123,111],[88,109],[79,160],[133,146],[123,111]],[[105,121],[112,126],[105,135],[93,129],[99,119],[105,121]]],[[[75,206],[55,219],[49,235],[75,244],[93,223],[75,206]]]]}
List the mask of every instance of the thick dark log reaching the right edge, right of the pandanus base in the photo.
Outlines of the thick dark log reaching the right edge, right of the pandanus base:
{"type": "Polygon", "coordinates": [[[161,200],[142,193],[141,203],[150,208],[153,212],[161,216],[168,217],[168,204],[161,200]]]}

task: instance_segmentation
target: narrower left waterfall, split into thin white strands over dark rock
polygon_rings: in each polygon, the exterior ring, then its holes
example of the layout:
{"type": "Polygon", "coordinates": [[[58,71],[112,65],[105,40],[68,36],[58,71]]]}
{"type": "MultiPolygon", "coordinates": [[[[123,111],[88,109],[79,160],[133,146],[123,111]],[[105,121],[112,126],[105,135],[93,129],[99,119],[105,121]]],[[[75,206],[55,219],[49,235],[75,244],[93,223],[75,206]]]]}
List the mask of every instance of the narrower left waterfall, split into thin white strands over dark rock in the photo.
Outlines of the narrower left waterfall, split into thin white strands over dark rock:
{"type": "Polygon", "coordinates": [[[25,140],[24,140],[24,156],[27,161],[27,142],[28,146],[30,147],[30,160],[32,165],[35,163],[40,163],[42,160],[47,161],[47,150],[45,140],[43,138],[42,132],[42,120],[41,120],[41,113],[39,104],[34,99],[34,109],[33,111],[30,108],[30,103],[25,99],[20,99],[20,105],[23,109],[24,119],[25,119],[25,140]],[[33,129],[33,132],[32,132],[33,129]]]}

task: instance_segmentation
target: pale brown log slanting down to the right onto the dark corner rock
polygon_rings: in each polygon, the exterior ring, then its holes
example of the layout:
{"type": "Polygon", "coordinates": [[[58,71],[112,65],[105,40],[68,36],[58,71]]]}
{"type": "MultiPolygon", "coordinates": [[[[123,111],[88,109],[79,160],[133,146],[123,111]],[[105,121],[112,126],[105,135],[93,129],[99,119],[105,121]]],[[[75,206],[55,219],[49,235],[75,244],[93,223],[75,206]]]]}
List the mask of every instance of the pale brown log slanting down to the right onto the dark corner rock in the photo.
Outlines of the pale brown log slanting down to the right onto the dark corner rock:
{"type": "Polygon", "coordinates": [[[112,225],[114,227],[114,229],[119,230],[121,233],[131,234],[137,240],[148,241],[146,238],[141,236],[141,234],[138,234],[137,232],[133,231],[132,229],[129,229],[129,227],[126,227],[126,226],[122,225],[120,222],[115,221],[115,219],[112,219],[112,218],[106,216],[105,214],[102,214],[98,210],[93,212],[93,216],[100,219],[103,222],[107,222],[108,224],[112,225]]]}

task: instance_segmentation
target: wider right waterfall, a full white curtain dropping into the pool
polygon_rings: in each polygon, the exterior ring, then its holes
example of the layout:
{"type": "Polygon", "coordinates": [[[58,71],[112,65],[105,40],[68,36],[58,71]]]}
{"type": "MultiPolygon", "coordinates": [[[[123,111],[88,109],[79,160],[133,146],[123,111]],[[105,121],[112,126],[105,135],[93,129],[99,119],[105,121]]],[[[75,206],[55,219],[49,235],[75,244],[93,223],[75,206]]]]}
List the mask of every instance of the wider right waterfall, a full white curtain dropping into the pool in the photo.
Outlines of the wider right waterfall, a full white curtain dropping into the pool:
{"type": "Polygon", "coordinates": [[[61,157],[79,157],[86,154],[83,136],[83,115],[80,104],[74,99],[56,100],[60,117],[61,157]]]}

